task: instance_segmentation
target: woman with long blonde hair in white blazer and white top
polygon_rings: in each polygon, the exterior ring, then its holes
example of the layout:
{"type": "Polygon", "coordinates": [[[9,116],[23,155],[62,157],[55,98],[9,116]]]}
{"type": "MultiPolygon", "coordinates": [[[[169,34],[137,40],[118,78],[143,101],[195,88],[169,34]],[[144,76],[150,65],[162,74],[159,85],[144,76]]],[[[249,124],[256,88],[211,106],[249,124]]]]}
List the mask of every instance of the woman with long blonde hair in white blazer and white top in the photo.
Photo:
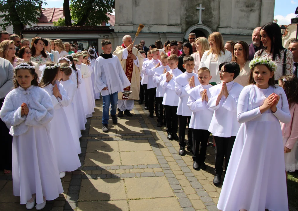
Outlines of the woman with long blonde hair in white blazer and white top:
{"type": "Polygon", "coordinates": [[[221,83],[219,79],[218,67],[223,62],[229,62],[232,60],[232,53],[224,49],[224,39],[219,32],[213,32],[209,35],[208,41],[210,44],[210,50],[205,51],[199,69],[201,67],[207,67],[211,73],[210,83],[212,85],[221,83]]]}

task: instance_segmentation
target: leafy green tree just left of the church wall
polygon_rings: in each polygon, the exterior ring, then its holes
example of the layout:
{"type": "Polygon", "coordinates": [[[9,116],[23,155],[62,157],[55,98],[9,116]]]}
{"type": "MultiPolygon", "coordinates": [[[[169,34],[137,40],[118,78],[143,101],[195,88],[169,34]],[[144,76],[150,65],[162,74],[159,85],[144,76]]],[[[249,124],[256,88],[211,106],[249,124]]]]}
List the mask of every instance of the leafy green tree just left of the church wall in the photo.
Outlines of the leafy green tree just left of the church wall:
{"type": "Polygon", "coordinates": [[[108,22],[106,13],[111,13],[115,0],[70,0],[72,20],[77,26],[96,26],[108,22]]]}

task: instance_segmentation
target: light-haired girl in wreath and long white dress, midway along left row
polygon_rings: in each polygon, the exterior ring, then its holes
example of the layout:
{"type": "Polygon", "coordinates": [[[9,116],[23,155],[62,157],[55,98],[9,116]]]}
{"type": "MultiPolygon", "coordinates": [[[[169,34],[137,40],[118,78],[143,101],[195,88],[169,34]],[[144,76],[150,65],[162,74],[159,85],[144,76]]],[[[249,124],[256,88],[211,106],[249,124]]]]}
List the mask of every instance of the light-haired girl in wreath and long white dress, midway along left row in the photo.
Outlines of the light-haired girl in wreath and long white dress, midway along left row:
{"type": "Polygon", "coordinates": [[[91,89],[89,87],[88,78],[91,76],[91,72],[89,72],[89,68],[86,64],[83,64],[83,55],[85,55],[82,52],[78,52],[76,54],[78,62],[75,63],[76,68],[81,70],[82,73],[82,83],[80,84],[80,92],[83,100],[83,106],[86,118],[92,117],[92,113],[94,112],[95,102],[94,102],[94,96],[93,92],[91,95],[91,89]],[[93,96],[93,98],[92,98],[93,96]]]}

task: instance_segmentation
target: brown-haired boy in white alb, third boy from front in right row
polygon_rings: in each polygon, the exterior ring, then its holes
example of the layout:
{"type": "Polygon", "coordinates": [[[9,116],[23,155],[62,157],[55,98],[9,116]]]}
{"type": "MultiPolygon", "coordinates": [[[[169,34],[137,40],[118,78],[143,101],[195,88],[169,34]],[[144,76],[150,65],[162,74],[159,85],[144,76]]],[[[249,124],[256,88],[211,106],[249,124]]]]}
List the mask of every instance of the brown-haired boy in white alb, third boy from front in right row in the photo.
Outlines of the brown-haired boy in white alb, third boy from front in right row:
{"type": "MultiPolygon", "coordinates": [[[[187,100],[189,97],[189,94],[187,93],[187,91],[200,84],[198,80],[198,74],[193,72],[195,68],[195,62],[193,57],[184,56],[182,66],[186,70],[186,72],[176,77],[176,85],[175,85],[176,94],[179,96],[179,103],[178,103],[178,109],[177,109],[177,115],[179,116],[179,132],[178,132],[179,145],[180,145],[179,155],[185,154],[185,151],[184,151],[185,145],[186,145],[184,141],[185,128],[186,128],[187,122],[189,124],[190,116],[192,114],[192,111],[187,106],[187,100]]],[[[187,150],[192,152],[193,151],[192,148],[193,148],[193,138],[191,134],[191,129],[188,128],[187,150]]]]}

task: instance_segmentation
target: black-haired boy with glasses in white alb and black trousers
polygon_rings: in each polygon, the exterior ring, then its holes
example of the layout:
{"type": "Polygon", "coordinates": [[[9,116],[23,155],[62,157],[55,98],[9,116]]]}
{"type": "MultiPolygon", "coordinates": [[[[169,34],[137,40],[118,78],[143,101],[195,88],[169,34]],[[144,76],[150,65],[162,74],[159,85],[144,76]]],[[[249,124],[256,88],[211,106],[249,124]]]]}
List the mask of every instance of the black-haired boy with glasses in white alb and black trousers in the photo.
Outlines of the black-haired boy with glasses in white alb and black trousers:
{"type": "Polygon", "coordinates": [[[226,158],[226,169],[240,128],[237,120],[237,104],[243,86],[234,82],[240,73],[240,67],[236,62],[224,62],[219,65],[219,78],[223,82],[209,89],[210,100],[208,106],[214,110],[214,114],[208,131],[215,139],[215,177],[214,185],[221,182],[224,157],[226,158]]]}

